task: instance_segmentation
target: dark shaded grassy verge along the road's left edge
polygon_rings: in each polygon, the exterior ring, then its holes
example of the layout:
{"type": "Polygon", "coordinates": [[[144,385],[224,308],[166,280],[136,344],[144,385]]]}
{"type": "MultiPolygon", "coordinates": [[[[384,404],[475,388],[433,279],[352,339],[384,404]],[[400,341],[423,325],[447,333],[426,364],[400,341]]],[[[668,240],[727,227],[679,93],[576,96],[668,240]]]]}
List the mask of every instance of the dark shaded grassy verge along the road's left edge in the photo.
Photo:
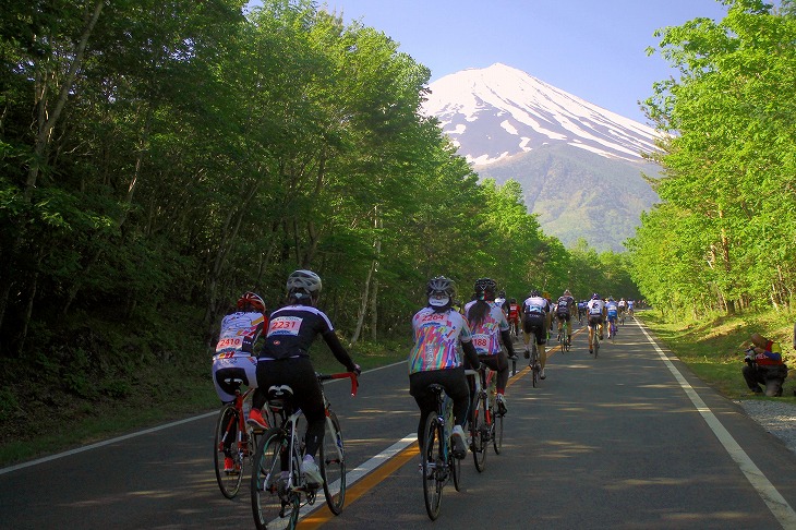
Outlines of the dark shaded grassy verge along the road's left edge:
{"type": "MultiPolygon", "coordinates": [[[[349,349],[362,371],[406,361],[408,341],[361,341],[349,349]]],[[[315,370],[342,372],[325,344],[313,346],[315,370]]],[[[3,388],[0,392],[0,468],[110,439],[132,431],[218,410],[210,362],[202,365],[142,368],[123,395],[86,399],[37,388],[36,397],[3,388]],[[38,397],[46,396],[46,397],[38,397]]],[[[366,380],[364,382],[366,384],[366,380]]]]}

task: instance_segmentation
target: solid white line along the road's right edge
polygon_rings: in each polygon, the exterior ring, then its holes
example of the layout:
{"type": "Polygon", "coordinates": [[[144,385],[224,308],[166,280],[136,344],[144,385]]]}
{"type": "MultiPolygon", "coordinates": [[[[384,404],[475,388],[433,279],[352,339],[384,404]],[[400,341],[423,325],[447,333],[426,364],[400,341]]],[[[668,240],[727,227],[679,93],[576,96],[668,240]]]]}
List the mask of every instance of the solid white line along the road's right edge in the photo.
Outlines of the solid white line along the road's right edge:
{"type": "Polygon", "coordinates": [[[677,383],[679,383],[686,395],[691,399],[694,407],[699,411],[700,414],[702,414],[702,418],[704,419],[705,423],[708,423],[708,426],[710,426],[710,429],[713,431],[713,434],[715,434],[716,438],[719,438],[719,442],[721,442],[721,444],[724,446],[724,449],[738,465],[752,487],[757,490],[758,494],[769,507],[771,513],[774,515],[776,520],[780,521],[780,525],[782,525],[782,528],[796,528],[796,511],[794,511],[791,505],[787,504],[787,501],[785,501],[785,498],[780,494],[776,487],[774,487],[774,485],[769,482],[769,479],[765,478],[763,472],[760,471],[755,462],[751,461],[751,458],[749,458],[744,449],[741,449],[735,438],[733,438],[727,430],[724,429],[724,425],[722,425],[715,414],[713,414],[713,412],[708,408],[705,402],[702,401],[702,398],[699,397],[694,387],[688,384],[683,374],[677,370],[672,361],[670,361],[668,357],[666,357],[666,353],[663,352],[663,350],[652,339],[650,334],[647,333],[647,329],[644,329],[639,321],[634,318],[634,322],[644,334],[647,340],[649,340],[650,344],[655,348],[655,351],[661,357],[664,364],[666,364],[668,371],[672,372],[672,375],[674,375],[675,380],[677,380],[677,383]]]}

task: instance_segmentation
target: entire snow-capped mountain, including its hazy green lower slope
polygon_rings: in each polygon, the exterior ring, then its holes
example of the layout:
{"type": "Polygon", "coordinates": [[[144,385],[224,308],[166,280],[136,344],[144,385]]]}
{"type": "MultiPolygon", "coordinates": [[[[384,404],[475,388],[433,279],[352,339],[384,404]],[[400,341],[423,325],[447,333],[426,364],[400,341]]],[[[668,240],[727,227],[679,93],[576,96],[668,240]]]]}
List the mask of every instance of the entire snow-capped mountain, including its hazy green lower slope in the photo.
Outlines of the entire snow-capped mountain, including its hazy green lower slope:
{"type": "Polygon", "coordinates": [[[641,157],[652,128],[505,64],[457,72],[430,85],[424,104],[482,179],[522,186],[528,210],[565,245],[624,251],[641,212],[659,198],[641,157]]]}

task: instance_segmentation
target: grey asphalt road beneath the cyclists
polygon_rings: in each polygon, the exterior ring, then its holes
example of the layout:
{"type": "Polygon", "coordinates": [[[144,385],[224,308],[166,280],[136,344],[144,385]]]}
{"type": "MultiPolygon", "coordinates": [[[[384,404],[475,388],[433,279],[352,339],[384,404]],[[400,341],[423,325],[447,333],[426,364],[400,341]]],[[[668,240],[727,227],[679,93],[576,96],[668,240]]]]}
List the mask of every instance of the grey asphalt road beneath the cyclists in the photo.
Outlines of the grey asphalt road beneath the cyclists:
{"type": "MultiPolygon", "coordinates": [[[[446,487],[435,522],[419,458],[400,453],[411,451],[418,419],[406,364],[363,374],[354,398],[347,381],[328,384],[353,474],[342,515],[315,520],[346,529],[796,528],[793,451],[637,323],[604,341],[598,359],[584,335],[552,354],[539,387],[526,372],[509,382],[503,453],[490,451],[483,473],[465,460],[463,489],[446,487]]],[[[204,414],[2,469],[0,528],[251,528],[248,482],[233,501],[218,491],[214,422],[204,414]]]]}

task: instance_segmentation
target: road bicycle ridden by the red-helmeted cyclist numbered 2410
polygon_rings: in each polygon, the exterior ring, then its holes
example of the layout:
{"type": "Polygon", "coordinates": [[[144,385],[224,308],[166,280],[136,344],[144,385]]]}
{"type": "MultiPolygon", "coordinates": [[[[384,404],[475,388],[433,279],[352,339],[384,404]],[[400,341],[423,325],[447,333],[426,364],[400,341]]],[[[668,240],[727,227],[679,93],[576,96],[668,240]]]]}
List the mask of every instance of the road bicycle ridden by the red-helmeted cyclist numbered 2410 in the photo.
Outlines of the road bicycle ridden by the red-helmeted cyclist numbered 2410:
{"type": "Polygon", "coordinates": [[[246,389],[241,394],[243,380],[229,378],[226,384],[234,387],[234,400],[221,407],[216,421],[213,460],[216,465],[216,481],[227,498],[234,498],[243,482],[246,462],[251,461],[256,448],[257,436],[262,430],[255,430],[246,423],[243,403],[254,390],[246,389]],[[226,469],[225,459],[231,458],[232,469],[226,469]]]}

